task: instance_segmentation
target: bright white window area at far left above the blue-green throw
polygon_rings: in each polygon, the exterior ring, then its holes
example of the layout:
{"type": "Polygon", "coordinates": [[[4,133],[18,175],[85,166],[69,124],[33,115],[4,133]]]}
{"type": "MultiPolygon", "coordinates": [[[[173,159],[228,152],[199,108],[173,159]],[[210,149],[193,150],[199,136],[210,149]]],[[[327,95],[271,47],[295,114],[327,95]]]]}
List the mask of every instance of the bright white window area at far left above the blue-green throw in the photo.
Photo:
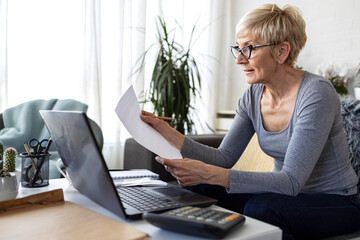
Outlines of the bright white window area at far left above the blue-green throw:
{"type": "Polygon", "coordinates": [[[8,2],[8,105],[79,98],[84,1],[8,2]]]}

